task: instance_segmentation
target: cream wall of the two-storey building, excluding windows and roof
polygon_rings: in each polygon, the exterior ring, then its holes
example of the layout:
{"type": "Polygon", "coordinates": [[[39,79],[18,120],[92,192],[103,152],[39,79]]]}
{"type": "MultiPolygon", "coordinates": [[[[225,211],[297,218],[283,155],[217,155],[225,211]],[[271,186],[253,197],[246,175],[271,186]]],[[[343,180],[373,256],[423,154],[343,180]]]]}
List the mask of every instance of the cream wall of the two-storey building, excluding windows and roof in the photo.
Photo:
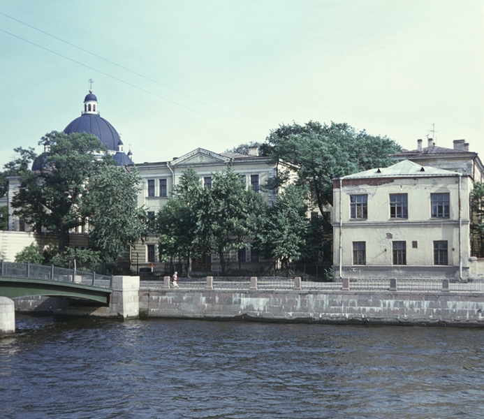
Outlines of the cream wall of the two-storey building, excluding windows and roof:
{"type": "MultiPolygon", "coordinates": [[[[334,269],[340,269],[339,187],[335,182],[333,212],[334,269]]],[[[341,269],[343,277],[432,277],[459,276],[469,270],[469,195],[471,179],[419,177],[394,179],[348,179],[342,188],[341,269]],[[459,179],[461,182],[459,191],[459,179]],[[390,218],[390,193],[406,193],[408,219],[390,218]],[[432,218],[431,193],[449,193],[450,217],[432,218]],[[351,219],[351,195],[367,194],[367,219],[351,219]],[[459,207],[461,212],[459,214],[459,207]],[[459,216],[461,220],[459,221],[459,216]],[[448,242],[448,265],[434,265],[434,241],[448,242]],[[406,265],[393,265],[393,242],[406,242],[406,265]],[[353,242],[365,242],[366,264],[353,260],[353,242]],[[420,269],[419,269],[420,268],[420,269]]]]}

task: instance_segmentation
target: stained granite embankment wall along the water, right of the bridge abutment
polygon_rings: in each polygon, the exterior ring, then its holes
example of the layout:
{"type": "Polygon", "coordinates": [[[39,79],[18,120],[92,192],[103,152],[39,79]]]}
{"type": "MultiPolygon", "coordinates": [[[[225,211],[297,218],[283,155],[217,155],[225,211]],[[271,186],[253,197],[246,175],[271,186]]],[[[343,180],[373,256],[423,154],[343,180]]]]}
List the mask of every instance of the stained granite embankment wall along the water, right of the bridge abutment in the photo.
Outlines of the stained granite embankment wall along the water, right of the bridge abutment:
{"type": "Polygon", "coordinates": [[[484,326],[483,293],[140,290],[140,316],[484,326]]]}

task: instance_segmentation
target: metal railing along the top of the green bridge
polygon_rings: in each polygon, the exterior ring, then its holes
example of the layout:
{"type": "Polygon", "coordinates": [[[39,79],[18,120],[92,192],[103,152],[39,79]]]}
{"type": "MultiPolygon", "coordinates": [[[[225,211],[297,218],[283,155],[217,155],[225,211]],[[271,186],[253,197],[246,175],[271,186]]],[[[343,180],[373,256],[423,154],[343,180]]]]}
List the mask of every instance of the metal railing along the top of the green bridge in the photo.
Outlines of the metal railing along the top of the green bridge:
{"type": "Polygon", "coordinates": [[[112,288],[112,276],[55,267],[54,265],[34,265],[33,263],[0,260],[0,275],[2,277],[43,279],[45,281],[73,282],[101,288],[112,288]]]}

